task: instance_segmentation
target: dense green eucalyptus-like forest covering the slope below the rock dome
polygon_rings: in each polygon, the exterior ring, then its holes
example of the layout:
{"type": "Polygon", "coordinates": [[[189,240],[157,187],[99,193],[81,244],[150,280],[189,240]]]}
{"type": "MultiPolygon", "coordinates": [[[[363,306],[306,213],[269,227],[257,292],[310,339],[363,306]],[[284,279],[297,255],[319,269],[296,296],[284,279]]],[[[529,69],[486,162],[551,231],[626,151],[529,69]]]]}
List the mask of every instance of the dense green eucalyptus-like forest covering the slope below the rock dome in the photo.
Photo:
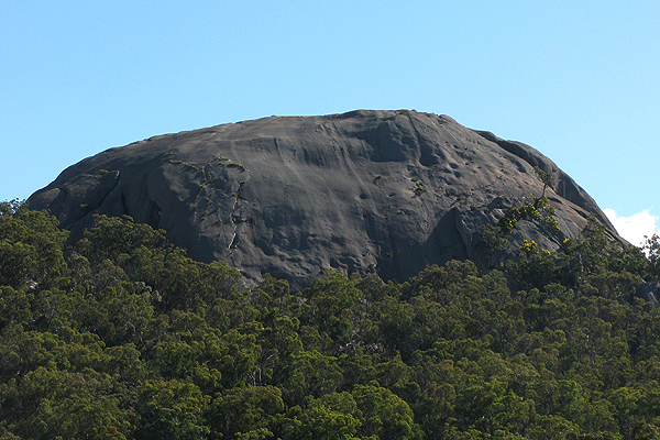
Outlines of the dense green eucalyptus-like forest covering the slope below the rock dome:
{"type": "Polygon", "coordinates": [[[488,273],[290,292],[128,217],[70,243],[2,202],[0,439],[660,438],[660,311],[634,295],[660,239],[646,248],[592,222],[488,273]]]}

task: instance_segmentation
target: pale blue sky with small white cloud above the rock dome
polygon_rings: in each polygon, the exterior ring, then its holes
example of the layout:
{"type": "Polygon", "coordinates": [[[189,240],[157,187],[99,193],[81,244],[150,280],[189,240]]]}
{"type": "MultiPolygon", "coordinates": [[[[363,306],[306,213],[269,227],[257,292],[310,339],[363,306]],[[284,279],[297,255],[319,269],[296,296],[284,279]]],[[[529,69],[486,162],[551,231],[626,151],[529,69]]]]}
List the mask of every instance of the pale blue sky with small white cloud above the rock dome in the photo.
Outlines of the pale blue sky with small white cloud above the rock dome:
{"type": "Polygon", "coordinates": [[[629,240],[660,227],[658,0],[0,0],[0,200],[155,134],[415,109],[536,147],[629,240]]]}

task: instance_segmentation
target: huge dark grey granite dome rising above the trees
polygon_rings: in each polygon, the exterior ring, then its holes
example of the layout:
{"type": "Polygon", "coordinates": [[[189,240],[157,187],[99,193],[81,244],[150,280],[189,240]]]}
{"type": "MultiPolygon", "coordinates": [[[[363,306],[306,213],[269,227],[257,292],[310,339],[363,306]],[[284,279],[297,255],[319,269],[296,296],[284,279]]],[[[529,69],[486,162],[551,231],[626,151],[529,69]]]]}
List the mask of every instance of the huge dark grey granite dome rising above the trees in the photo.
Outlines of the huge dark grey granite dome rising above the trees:
{"type": "Polygon", "coordinates": [[[514,242],[554,250],[590,215],[616,237],[538,151],[415,111],[273,117],[154,136],[70,166],[29,204],[74,238],[95,213],[129,215],[166,230],[193,258],[227,261],[249,279],[270,273],[300,288],[329,271],[376,271],[405,280],[451,258],[487,265],[481,227],[541,195],[534,166],[556,176],[546,195],[562,232],[520,221],[514,242]]]}

